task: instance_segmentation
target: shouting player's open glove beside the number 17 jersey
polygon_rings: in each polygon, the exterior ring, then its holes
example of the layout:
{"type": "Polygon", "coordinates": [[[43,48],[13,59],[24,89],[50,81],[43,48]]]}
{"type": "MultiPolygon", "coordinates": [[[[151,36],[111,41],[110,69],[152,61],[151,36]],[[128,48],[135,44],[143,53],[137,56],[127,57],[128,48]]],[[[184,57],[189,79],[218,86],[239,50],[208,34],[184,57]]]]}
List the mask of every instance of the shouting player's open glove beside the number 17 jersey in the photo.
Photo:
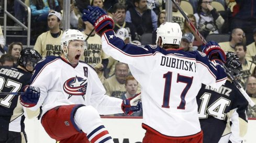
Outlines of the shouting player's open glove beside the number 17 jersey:
{"type": "Polygon", "coordinates": [[[141,95],[137,94],[132,98],[128,98],[123,100],[121,105],[122,110],[126,115],[131,115],[134,112],[139,112],[142,110],[142,103],[139,101],[141,99],[141,95]]]}

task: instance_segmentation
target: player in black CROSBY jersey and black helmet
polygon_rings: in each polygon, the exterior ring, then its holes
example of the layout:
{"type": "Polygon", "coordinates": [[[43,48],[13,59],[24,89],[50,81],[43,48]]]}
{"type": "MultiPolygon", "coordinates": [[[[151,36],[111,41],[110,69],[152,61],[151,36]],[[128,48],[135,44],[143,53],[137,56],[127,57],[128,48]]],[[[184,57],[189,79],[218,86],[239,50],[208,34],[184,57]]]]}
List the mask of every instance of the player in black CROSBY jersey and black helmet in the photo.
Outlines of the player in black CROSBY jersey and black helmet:
{"type": "MultiPolygon", "coordinates": [[[[20,51],[17,68],[0,66],[1,92],[21,92],[21,88],[29,84],[34,67],[41,58],[36,50],[25,48],[20,51]]],[[[0,142],[27,142],[24,110],[18,99],[19,96],[14,94],[0,95],[0,142]]]]}

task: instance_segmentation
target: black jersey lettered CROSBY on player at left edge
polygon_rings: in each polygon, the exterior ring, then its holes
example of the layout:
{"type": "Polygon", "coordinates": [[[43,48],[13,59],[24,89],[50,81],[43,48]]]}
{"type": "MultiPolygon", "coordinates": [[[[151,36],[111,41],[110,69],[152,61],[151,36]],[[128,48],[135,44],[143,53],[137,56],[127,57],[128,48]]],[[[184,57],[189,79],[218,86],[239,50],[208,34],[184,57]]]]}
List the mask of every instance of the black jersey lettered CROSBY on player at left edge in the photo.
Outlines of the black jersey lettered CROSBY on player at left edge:
{"type": "MultiPolygon", "coordinates": [[[[28,85],[32,74],[20,68],[0,66],[1,92],[21,92],[28,85]]],[[[0,96],[0,129],[4,131],[24,131],[23,107],[18,95],[0,96]]]]}

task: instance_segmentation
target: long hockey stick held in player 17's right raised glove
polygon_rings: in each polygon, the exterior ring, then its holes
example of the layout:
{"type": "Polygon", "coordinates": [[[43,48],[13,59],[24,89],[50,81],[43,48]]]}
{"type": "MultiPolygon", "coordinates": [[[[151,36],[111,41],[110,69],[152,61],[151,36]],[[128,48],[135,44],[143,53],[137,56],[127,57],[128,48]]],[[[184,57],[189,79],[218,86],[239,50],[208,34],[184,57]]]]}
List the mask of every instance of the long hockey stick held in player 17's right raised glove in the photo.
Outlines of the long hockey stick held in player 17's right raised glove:
{"type": "MultiPolygon", "coordinates": [[[[207,44],[205,38],[198,32],[198,30],[195,28],[195,26],[193,25],[193,23],[190,21],[190,19],[186,16],[185,12],[181,9],[181,7],[175,2],[175,0],[172,0],[172,3],[177,7],[177,9],[181,12],[182,16],[187,20],[187,22],[190,24],[190,27],[193,29],[193,34],[196,34],[197,36],[199,36],[200,40],[203,42],[204,45],[207,44]]],[[[247,99],[247,101],[249,102],[250,106],[253,107],[255,105],[255,103],[251,100],[250,96],[246,93],[246,91],[244,91],[244,89],[242,88],[242,86],[240,85],[240,83],[237,82],[237,80],[231,76],[229,70],[227,69],[227,67],[225,67],[225,65],[222,65],[225,68],[225,72],[226,74],[230,77],[230,79],[233,81],[233,83],[236,85],[236,87],[240,90],[241,94],[244,96],[244,98],[247,99]]]]}

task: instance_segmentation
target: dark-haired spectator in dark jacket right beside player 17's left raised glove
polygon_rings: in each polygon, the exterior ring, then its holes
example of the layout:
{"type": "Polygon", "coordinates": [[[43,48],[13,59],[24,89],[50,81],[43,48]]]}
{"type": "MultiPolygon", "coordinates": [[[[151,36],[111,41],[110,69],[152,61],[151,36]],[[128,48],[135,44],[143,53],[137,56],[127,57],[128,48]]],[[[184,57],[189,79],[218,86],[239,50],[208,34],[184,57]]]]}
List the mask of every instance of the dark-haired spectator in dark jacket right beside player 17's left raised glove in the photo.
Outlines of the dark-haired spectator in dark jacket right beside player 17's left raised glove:
{"type": "Polygon", "coordinates": [[[114,31],[117,32],[120,28],[126,28],[131,36],[131,40],[139,40],[135,25],[132,22],[125,21],[126,6],[124,4],[116,3],[113,7],[113,20],[115,21],[114,31]]]}

